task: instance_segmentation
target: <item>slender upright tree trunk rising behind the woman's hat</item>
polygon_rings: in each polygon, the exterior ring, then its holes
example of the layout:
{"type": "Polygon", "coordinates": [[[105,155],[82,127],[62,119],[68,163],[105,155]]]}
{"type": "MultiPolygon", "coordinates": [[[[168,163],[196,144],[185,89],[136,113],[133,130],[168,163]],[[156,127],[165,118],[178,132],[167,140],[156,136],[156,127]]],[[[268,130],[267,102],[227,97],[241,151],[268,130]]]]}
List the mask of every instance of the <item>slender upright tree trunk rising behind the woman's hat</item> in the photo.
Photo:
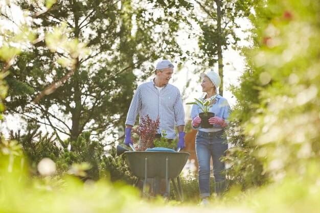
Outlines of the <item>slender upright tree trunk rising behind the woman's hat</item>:
{"type": "Polygon", "coordinates": [[[221,84],[219,87],[220,96],[223,96],[223,61],[222,61],[222,31],[221,31],[221,0],[215,0],[217,4],[217,31],[220,39],[218,39],[217,47],[218,47],[218,70],[219,76],[221,78],[221,84]]]}

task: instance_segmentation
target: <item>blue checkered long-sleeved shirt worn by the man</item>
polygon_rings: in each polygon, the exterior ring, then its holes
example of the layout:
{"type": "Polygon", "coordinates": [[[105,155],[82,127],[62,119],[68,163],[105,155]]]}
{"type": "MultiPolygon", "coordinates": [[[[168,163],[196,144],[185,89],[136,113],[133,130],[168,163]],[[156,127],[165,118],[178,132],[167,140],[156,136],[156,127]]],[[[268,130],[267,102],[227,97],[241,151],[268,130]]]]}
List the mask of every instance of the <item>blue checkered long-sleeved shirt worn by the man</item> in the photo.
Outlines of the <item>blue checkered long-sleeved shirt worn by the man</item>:
{"type": "MultiPolygon", "coordinates": [[[[159,91],[153,80],[138,86],[127,114],[126,125],[134,126],[136,116],[149,115],[155,121],[159,116],[159,130],[165,130],[167,138],[176,138],[174,124],[185,125],[185,110],[180,91],[172,84],[167,84],[159,91]]],[[[140,123],[139,121],[139,123],[140,123]]]]}

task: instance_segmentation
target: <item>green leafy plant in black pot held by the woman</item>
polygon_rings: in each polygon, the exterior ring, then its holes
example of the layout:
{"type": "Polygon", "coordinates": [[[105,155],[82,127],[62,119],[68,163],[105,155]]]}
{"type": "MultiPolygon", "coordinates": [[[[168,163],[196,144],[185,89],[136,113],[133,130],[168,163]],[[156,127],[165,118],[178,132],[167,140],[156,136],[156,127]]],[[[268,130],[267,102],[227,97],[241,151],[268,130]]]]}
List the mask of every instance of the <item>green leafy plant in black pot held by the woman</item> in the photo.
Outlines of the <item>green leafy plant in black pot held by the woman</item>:
{"type": "Polygon", "coordinates": [[[201,128],[211,128],[212,125],[209,124],[209,119],[210,117],[214,117],[215,113],[213,112],[209,112],[210,107],[212,107],[212,100],[216,97],[217,95],[215,95],[214,97],[212,97],[211,99],[194,99],[196,100],[195,102],[188,102],[186,104],[195,104],[199,107],[199,109],[202,110],[202,112],[199,113],[199,117],[201,119],[201,128]]]}

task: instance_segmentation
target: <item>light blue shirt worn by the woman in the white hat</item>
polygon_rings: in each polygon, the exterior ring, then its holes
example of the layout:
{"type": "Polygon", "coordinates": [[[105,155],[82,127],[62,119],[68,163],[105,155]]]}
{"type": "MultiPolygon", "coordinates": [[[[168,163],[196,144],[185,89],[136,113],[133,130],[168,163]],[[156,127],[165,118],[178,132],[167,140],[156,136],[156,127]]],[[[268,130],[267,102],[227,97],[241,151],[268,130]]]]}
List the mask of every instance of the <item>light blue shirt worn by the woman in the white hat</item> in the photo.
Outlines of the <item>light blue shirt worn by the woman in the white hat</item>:
{"type": "MultiPolygon", "coordinates": [[[[202,96],[201,99],[204,99],[204,97],[205,95],[202,96]]],[[[215,116],[221,117],[221,119],[224,119],[224,120],[226,120],[229,117],[230,111],[231,111],[231,108],[228,101],[222,96],[220,96],[220,94],[218,94],[218,96],[216,97],[216,102],[209,109],[209,112],[214,112],[215,116]]],[[[192,105],[191,119],[193,120],[196,116],[199,115],[200,112],[203,112],[203,111],[199,109],[197,105],[195,104],[192,105]]],[[[226,122],[228,123],[227,120],[226,122]]],[[[210,131],[210,129],[201,129],[200,127],[198,128],[192,127],[192,128],[198,129],[198,130],[210,131]]],[[[223,129],[220,125],[213,125],[213,128],[223,129]]]]}

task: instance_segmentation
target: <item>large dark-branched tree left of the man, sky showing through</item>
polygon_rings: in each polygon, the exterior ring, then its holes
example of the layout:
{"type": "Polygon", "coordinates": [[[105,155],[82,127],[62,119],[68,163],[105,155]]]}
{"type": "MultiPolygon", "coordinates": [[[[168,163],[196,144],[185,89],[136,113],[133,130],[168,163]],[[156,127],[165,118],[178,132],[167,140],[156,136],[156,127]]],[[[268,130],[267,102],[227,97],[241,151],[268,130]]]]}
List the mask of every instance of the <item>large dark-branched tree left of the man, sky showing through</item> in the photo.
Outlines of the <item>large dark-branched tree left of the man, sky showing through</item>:
{"type": "Polygon", "coordinates": [[[8,83],[19,81],[32,90],[9,93],[7,109],[29,124],[50,126],[58,138],[117,133],[136,80],[151,74],[150,62],[180,54],[173,18],[156,18],[154,10],[145,9],[147,2],[60,0],[50,9],[30,1],[16,4],[29,11],[28,27],[37,35],[8,76],[8,83]],[[144,73],[137,77],[136,69],[144,73]]]}

